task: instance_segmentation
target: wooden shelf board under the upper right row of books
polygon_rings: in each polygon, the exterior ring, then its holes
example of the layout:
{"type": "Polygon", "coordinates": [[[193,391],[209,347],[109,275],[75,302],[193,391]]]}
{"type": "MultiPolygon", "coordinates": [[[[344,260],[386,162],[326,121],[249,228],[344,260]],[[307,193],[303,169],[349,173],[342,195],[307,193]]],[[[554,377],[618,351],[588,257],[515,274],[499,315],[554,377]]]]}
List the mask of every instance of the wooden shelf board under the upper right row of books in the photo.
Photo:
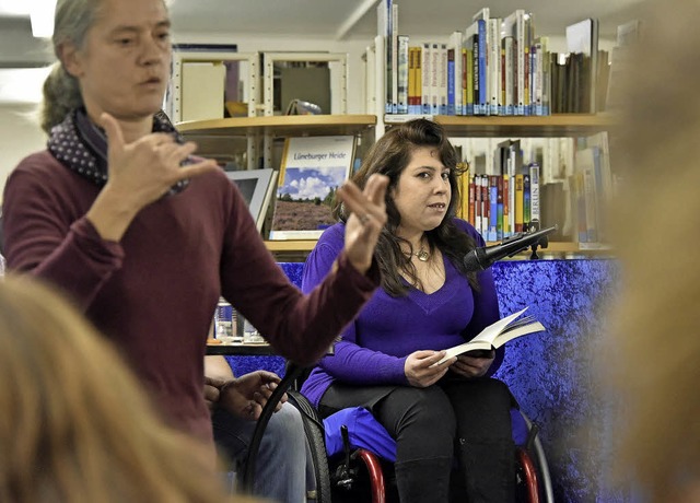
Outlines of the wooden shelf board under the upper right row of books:
{"type": "MultiPolygon", "coordinates": [[[[417,116],[420,117],[420,116],[417,116]]],[[[392,120],[384,117],[387,126],[406,121],[408,117],[392,120]]],[[[545,117],[522,116],[432,116],[435,122],[443,125],[451,137],[578,137],[610,130],[615,127],[615,117],[610,114],[556,114],[545,117]]]]}

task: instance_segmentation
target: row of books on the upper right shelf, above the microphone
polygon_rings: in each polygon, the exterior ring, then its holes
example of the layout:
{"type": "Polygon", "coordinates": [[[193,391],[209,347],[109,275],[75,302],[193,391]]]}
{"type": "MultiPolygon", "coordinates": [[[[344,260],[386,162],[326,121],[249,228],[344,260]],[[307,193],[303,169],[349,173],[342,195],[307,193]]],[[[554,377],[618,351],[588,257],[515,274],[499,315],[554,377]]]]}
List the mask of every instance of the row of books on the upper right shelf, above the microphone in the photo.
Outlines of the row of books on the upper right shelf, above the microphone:
{"type": "Polygon", "coordinates": [[[576,23],[567,36],[572,57],[559,58],[549,51],[548,37],[535,35],[532,13],[517,9],[500,17],[482,8],[447,43],[413,44],[399,34],[397,3],[382,0],[375,52],[382,63],[377,75],[385,77],[380,97],[384,113],[545,116],[600,110],[605,93],[596,98],[595,89],[600,86],[597,75],[607,74],[607,69],[597,69],[607,66],[607,55],[598,62],[597,21],[576,23]],[[582,36],[586,28],[587,36],[582,36]],[[569,94],[575,92],[575,107],[564,109],[561,104],[572,100],[557,97],[552,108],[552,93],[564,87],[569,94]]]}

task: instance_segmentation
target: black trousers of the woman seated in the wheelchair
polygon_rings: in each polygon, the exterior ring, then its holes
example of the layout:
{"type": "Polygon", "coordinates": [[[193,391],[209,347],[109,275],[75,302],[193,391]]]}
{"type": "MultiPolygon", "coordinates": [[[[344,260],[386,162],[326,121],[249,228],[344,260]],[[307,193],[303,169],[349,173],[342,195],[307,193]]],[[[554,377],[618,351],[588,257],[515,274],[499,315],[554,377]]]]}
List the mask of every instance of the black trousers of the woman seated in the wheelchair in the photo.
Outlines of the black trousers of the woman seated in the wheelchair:
{"type": "Polygon", "coordinates": [[[366,407],[396,438],[396,482],[402,503],[509,503],[514,500],[510,390],[491,378],[445,377],[428,388],[334,384],[323,417],[366,407]],[[453,470],[455,468],[456,470],[453,470]],[[452,476],[452,481],[451,481],[452,476]]]}

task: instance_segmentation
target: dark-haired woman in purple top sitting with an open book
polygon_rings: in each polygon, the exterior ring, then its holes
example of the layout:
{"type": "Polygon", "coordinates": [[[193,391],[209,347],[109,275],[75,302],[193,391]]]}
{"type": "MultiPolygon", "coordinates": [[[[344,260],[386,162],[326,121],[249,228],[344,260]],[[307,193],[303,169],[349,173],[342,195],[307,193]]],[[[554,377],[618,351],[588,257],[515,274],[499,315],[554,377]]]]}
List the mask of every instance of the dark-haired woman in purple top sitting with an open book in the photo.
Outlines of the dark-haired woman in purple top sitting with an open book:
{"type": "MultiPolygon", "coordinates": [[[[441,126],[417,119],[389,130],[353,182],[388,176],[388,222],[375,259],[382,289],[342,332],[302,393],[327,417],[366,407],[397,441],[396,481],[406,502],[447,501],[452,487],[469,502],[514,498],[514,446],[508,387],[489,376],[502,352],[467,353],[434,365],[444,350],[499,318],[490,270],[465,270],[462,258],[483,239],[455,219],[457,157],[441,126]]],[[[330,270],[343,246],[342,221],[306,260],[302,289],[330,270]]]]}

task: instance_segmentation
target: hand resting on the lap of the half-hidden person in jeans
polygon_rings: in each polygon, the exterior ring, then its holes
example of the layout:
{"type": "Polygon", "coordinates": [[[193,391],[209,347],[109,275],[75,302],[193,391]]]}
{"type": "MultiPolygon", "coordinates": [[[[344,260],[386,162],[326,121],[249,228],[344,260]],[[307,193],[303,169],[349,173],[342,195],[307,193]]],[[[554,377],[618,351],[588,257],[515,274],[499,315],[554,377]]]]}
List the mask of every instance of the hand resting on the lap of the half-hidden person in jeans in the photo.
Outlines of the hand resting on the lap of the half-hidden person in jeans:
{"type": "MultiPolygon", "coordinates": [[[[279,384],[277,374],[266,371],[250,372],[249,374],[229,381],[220,390],[219,405],[229,412],[241,418],[257,420],[262,412],[262,407],[272,395],[279,384]]],[[[280,410],[287,401],[287,394],[275,408],[280,410]]]]}

